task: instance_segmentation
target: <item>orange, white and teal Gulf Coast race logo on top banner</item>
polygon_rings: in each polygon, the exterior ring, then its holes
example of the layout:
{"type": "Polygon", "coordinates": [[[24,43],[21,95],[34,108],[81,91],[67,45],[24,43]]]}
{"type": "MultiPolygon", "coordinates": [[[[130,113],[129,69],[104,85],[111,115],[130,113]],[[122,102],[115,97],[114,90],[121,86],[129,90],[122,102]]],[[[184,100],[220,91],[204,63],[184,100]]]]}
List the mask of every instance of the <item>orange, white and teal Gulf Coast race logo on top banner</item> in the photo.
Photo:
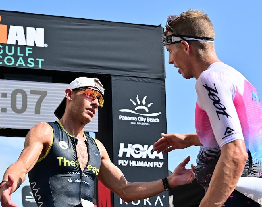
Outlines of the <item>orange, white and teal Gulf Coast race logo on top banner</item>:
{"type": "Polygon", "coordinates": [[[44,43],[44,28],[15,25],[9,25],[9,30],[7,28],[7,24],[0,24],[0,66],[41,68],[44,59],[34,57],[33,47],[48,46],[44,43]]]}

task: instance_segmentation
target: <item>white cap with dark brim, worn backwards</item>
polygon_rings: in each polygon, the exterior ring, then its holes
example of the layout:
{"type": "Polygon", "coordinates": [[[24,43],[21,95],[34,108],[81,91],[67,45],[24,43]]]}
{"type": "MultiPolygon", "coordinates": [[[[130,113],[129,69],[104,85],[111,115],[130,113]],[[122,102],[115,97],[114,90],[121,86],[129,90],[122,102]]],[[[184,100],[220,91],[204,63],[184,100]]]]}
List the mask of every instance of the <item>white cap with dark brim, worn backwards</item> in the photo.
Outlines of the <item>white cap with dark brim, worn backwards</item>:
{"type": "MultiPolygon", "coordinates": [[[[105,89],[98,78],[79,77],[76,78],[74,81],[72,81],[67,88],[73,90],[73,89],[88,87],[88,86],[98,89],[104,95],[105,89]],[[98,85],[96,82],[99,83],[101,86],[98,85]]],[[[61,119],[65,113],[65,103],[66,103],[66,99],[64,97],[63,101],[61,101],[61,103],[59,104],[59,106],[56,108],[54,112],[55,116],[59,119],[61,119]]]]}

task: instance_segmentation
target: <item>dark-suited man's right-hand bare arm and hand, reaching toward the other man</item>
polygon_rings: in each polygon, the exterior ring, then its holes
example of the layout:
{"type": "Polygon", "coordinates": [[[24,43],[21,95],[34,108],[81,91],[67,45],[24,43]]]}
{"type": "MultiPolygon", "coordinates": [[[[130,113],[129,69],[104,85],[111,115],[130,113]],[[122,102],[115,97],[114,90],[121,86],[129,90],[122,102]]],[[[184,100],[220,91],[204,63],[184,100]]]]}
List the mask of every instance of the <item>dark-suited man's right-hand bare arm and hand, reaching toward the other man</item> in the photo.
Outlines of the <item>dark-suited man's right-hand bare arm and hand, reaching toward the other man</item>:
{"type": "MultiPolygon", "coordinates": [[[[130,183],[117,166],[109,159],[105,147],[99,142],[101,152],[101,167],[98,179],[111,191],[116,193],[125,202],[150,198],[165,191],[162,179],[152,182],[130,183]]],[[[185,166],[189,162],[187,157],[174,173],[167,180],[170,187],[191,183],[195,179],[192,169],[186,169],[185,166]]]]}

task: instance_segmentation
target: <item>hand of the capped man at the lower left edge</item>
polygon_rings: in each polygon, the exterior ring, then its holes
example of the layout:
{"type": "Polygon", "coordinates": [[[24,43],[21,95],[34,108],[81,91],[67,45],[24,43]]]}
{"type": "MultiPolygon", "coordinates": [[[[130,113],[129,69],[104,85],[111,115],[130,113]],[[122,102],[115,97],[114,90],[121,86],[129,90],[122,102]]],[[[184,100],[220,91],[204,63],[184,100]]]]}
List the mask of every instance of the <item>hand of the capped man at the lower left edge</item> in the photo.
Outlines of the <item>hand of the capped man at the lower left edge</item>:
{"type": "Polygon", "coordinates": [[[8,181],[0,188],[0,201],[2,207],[18,207],[11,201],[11,192],[13,190],[14,178],[8,175],[8,181]]]}

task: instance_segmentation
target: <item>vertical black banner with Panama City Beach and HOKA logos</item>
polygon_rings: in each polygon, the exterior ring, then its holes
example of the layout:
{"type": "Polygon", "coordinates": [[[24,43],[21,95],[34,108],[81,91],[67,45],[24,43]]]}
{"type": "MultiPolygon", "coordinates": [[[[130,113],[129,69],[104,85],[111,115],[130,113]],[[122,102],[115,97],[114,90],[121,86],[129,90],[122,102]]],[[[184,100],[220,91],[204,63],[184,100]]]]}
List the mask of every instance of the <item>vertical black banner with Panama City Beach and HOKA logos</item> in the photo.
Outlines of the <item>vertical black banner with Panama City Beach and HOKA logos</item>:
{"type": "MultiPolygon", "coordinates": [[[[167,177],[167,155],[153,152],[153,143],[166,131],[165,81],[112,76],[113,162],[130,182],[167,177]]],[[[114,206],[169,206],[168,193],[114,206]]]]}

